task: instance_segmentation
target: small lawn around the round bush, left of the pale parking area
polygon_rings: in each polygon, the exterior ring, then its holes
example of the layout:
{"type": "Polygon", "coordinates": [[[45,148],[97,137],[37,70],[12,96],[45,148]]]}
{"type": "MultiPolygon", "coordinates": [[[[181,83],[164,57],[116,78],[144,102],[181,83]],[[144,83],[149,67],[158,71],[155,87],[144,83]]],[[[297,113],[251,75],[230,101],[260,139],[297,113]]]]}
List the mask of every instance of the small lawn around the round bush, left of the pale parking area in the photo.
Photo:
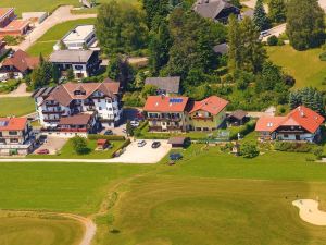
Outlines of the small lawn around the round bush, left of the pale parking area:
{"type": "Polygon", "coordinates": [[[90,149],[90,152],[87,155],[77,155],[74,150],[72,140],[67,140],[67,143],[62,147],[58,155],[29,155],[29,158],[62,158],[62,159],[80,159],[80,158],[89,158],[89,159],[109,159],[112,154],[123,145],[124,142],[111,142],[113,147],[106,150],[96,150],[97,140],[87,140],[87,146],[90,149]]]}

